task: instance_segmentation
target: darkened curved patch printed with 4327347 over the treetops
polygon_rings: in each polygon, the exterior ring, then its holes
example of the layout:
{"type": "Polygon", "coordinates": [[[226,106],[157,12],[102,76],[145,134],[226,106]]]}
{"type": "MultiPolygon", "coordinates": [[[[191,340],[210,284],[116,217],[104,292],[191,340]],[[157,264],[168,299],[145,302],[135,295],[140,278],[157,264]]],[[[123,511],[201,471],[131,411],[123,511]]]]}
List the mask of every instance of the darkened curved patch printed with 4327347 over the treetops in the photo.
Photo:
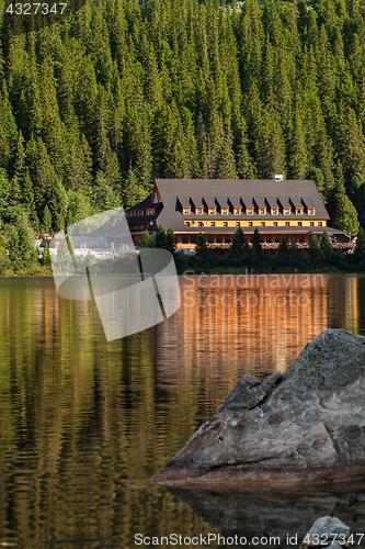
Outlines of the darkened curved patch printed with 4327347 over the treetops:
{"type": "Polygon", "coordinates": [[[53,23],[65,21],[70,13],[76,13],[84,3],[85,0],[43,0],[41,2],[5,0],[3,23],[14,34],[39,31],[53,23]]]}

